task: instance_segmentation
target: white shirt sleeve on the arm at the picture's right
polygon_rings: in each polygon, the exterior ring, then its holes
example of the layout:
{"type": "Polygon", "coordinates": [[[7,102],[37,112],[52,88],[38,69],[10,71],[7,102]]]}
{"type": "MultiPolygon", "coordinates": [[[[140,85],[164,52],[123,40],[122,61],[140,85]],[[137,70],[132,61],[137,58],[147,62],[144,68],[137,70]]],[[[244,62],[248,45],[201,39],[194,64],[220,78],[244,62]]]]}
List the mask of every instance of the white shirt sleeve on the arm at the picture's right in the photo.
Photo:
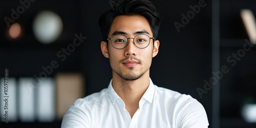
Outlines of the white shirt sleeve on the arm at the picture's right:
{"type": "Polygon", "coordinates": [[[204,107],[196,99],[184,103],[177,116],[177,127],[205,128],[209,125],[204,107]]]}

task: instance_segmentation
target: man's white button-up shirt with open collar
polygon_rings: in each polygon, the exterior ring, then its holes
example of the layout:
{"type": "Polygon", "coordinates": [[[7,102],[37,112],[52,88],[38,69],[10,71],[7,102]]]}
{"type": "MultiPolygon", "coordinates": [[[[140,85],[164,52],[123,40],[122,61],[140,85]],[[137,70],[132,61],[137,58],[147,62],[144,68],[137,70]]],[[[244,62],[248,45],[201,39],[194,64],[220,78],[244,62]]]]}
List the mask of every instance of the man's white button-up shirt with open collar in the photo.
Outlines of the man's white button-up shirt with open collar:
{"type": "Polygon", "coordinates": [[[123,100],[112,87],[75,101],[63,117],[61,127],[207,127],[208,119],[200,102],[189,95],[150,86],[131,118],[123,100]]]}

